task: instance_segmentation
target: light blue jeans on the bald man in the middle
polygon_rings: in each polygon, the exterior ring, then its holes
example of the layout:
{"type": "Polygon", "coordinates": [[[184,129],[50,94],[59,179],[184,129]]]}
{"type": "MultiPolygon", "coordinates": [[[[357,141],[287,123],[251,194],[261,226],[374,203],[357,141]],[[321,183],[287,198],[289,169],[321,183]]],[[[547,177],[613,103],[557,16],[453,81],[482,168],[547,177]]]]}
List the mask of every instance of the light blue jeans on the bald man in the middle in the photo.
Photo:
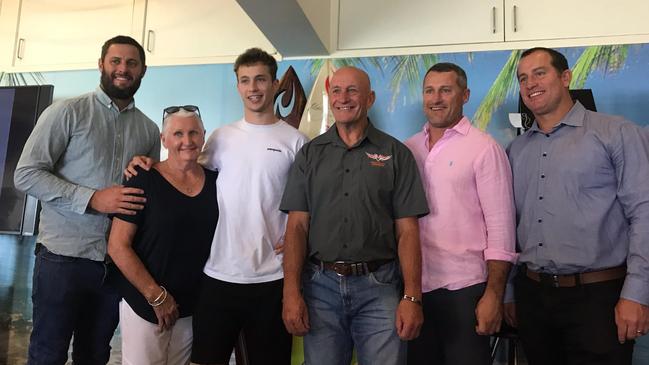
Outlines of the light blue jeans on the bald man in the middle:
{"type": "Polygon", "coordinates": [[[395,327],[402,288],[396,261],[364,276],[338,276],[306,262],[302,287],[310,324],[307,365],[349,365],[354,346],[360,365],[405,364],[406,343],[395,327]]]}

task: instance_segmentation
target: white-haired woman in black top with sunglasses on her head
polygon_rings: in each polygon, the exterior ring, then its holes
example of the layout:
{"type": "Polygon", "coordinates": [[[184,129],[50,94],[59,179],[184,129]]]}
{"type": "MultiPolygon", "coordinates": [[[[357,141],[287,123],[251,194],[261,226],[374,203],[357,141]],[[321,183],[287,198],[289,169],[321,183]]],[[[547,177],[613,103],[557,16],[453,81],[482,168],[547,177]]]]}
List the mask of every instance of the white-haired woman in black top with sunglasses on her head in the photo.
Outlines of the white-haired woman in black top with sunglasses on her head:
{"type": "Polygon", "coordinates": [[[197,162],[205,142],[198,108],[166,108],[160,138],[168,159],[126,183],[144,191],[144,209],[116,214],[108,240],[123,296],[125,365],[189,363],[191,316],[218,219],[217,173],[197,162]]]}

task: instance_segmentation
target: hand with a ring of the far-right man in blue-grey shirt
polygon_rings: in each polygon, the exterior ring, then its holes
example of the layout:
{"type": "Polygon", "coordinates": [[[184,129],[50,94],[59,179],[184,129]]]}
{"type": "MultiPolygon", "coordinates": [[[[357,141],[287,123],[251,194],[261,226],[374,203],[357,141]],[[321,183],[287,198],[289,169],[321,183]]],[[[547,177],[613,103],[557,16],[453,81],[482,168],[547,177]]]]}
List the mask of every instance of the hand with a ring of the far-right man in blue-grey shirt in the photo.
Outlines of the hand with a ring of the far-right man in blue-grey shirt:
{"type": "Polygon", "coordinates": [[[620,298],[615,306],[615,324],[620,343],[635,340],[649,332],[649,307],[620,298]]]}

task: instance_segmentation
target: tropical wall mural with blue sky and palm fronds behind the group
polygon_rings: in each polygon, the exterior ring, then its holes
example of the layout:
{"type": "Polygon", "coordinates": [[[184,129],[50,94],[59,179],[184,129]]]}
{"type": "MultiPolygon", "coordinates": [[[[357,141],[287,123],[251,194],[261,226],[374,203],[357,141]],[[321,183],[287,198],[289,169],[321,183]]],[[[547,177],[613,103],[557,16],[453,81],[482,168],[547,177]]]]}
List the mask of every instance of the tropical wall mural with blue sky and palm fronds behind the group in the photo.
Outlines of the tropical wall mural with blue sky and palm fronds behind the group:
{"type": "MultiPolygon", "coordinates": [[[[573,88],[593,90],[599,111],[623,115],[649,124],[649,44],[560,48],[573,70],[573,88]]],[[[307,95],[323,65],[354,65],[370,75],[377,101],[370,118],[380,129],[400,140],[420,130],[421,83],[436,62],[453,62],[468,75],[471,97],[465,115],[479,128],[506,145],[516,135],[508,114],[518,110],[516,64],[521,51],[485,51],[346,59],[290,60],[279,64],[278,77],[291,66],[307,95]]],[[[46,72],[41,82],[55,86],[61,99],[93,90],[98,71],[46,72]]],[[[7,76],[5,76],[7,77],[7,76]]],[[[27,79],[28,77],[22,77],[27,79]]],[[[14,79],[16,77],[14,76],[14,79]]],[[[20,78],[19,78],[20,79],[20,78]]],[[[201,107],[211,131],[242,116],[232,65],[150,67],[136,95],[136,104],[157,120],[168,105],[201,107]]]]}

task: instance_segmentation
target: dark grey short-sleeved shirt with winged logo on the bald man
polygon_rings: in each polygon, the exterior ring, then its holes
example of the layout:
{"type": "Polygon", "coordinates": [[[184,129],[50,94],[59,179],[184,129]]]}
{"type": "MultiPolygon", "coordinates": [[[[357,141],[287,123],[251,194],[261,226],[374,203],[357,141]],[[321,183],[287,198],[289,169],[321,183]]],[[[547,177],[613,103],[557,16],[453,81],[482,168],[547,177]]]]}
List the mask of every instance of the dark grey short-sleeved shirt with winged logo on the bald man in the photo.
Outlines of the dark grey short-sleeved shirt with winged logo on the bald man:
{"type": "Polygon", "coordinates": [[[309,212],[308,255],[324,261],[396,258],[394,220],[428,214],[412,154],[372,124],[351,148],[335,126],[304,145],[280,209],[309,212]]]}

